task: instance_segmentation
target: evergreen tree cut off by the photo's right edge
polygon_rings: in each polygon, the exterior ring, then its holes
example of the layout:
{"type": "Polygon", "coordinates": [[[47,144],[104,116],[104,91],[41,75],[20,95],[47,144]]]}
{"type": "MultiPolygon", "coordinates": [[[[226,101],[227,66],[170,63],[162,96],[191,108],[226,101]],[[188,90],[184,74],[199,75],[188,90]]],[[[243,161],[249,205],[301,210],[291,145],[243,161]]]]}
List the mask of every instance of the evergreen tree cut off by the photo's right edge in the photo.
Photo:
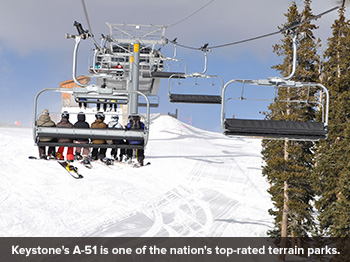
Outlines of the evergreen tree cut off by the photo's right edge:
{"type": "Polygon", "coordinates": [[[314,175],[321,234],[338,237],[350,235],[350,23],[344,9],[332,29],[322,78],[330,94],[329,136],[317,145],[314,175]]]}

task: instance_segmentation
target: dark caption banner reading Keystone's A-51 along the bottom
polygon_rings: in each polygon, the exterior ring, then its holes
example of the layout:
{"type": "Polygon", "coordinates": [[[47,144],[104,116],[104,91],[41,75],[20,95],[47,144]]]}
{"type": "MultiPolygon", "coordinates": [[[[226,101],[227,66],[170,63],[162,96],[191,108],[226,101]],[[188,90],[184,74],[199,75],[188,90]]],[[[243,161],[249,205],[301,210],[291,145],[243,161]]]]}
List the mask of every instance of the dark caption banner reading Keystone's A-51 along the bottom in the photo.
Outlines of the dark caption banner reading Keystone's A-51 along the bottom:
{"type": "Polygon", "coordinates": [[[350,261],[349,238],[0,238],[1,261],[350,261]],[[294,245],[294,247],[293,247],[294,245]]]}

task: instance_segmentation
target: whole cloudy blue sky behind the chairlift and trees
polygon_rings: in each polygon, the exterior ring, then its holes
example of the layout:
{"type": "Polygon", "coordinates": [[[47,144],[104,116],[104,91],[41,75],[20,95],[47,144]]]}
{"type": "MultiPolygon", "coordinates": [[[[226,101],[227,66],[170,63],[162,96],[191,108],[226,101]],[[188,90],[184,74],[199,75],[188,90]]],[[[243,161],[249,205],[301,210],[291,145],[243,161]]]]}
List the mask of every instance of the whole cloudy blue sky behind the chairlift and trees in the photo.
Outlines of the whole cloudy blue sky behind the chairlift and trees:
{"type": "MultiPolygon", "coordinates": [[[[130,0],[113,1],[85,0],[93,33],[108,34],[105,22],[169,25],[180,21],[200,7],[210,2],[204,0],[130,0]]],[[[215,0],[191,18],[170,27],[166,37],[178,42],[200,47],[223,44],[273,32],[285,21],[284,13],[291,1],[215,0]]],[[[301,1],[297,1],[300,9],[301,1]]],[[[31,126],[33,101],[37,92],[48,87],[58,87],[58,83],[71,79],[72,52],[74,40],[66,40],[65,33],[75,33],[73,23],[87,23],[78,0],[4,0],[0,4],[0,111],[3,123],[20,121],[31,126]]],[[[313,12],[318,14],[336,5],[336,1],[313,1],[313,12]]],[[[316,36],[324,41],[330,36],[330,27],[337,12],[325,15],[316,24],[320,26],[316,36]]],[[[207,74],[220,75],[225,82],[231,79],[259,79],[278,75],[270,69],[279,63],[272,52],[272,45],[280,35],[231,47],[214,49],[208,54],[207,74]]],[[[91,40],[81,44],[78,73],[87,73],[88,56],[93,47],[91,40]]],[[[162,48],[166,56],[173,55],[171,44],[162,48]]],[[[203,54],[198,51],[178,48],[178,58],[188,63],[188,72],[201,72],[203,54]]],[[[220,106],[171,104],[167,100],[167,80],[160,86],[160,107],[153,113],[175,112],[179,109],[179,119],[196,127],[220,131],[220,106]]],[[[45,106],[55,109],[60,104],[59,97],[45,98],[45,106]]],[[[50,108],[51,109],[51,108],[50,108]]],[[[52,109],[51,109],[52,110],[52,109]]],[[[234,114],[244,117],[259,117],[258,112],[266,110],[266,105],[234,107],[234,114]]]]}

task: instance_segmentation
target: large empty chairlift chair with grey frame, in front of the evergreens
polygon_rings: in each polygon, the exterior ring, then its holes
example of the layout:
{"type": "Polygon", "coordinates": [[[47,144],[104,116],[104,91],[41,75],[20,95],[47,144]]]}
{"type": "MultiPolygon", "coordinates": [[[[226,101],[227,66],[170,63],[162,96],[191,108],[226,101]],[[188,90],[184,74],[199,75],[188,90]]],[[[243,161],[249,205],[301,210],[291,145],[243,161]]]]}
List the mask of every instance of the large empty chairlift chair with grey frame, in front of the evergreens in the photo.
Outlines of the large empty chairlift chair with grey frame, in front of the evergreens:
{"type": "MultiPolygon", "coordinates": [[[[264,92],[264,90],[262,90],[264,92]]],[[[303,141],[317,141],[320,139],[326,139],[328,135],[328,107],[329,107],[329,94],[328,90],[318,83],[303,83],[287,81],[283,79],[268,79],[268,80],[231,80],[223,88],[222,92],[222,110],[221,110],[221,122],[223,127],[223,133],[227,136],[248,136],[248,137],[260,137],[267,139],[290,139],[290,140],[303,140],[303,141]],[[229,97],[226,99],[227,87],[233,83],[242,83],[241,96],[229,97]],[[274,99],[269,101],[274,103],[287,103],[289,105],[296,104],[300,107],[307,105],[312,107],[312,110],[318,112],[321,115],[321,121],[315,122],[303,122],[292,120],[273,120],[264,119],[236,119],[226,117],[226,104],[232,101],[267,101],[260,99],[248,99],[244,97],[244,85],[257,85],[262,89],[265,87],[275,87],[276,92],[281,88],[290,88],[294,90],[293,97],[286,97],[280,99],[278,95],[275,95],[274,99]],[[311,90],[311,91],[310,91],[311,90]],[[313,94],[313,97],[310,94],[313,94]],[[316,98],[316,97],[317,98],[316,98]]],[[[236,103],[237,104],[237,103],[236,103]]],[[[241,108],[236,107],[237,112],[241,108]]],[[[287,117],[288,118],[288,117],[287,117]]]]}

